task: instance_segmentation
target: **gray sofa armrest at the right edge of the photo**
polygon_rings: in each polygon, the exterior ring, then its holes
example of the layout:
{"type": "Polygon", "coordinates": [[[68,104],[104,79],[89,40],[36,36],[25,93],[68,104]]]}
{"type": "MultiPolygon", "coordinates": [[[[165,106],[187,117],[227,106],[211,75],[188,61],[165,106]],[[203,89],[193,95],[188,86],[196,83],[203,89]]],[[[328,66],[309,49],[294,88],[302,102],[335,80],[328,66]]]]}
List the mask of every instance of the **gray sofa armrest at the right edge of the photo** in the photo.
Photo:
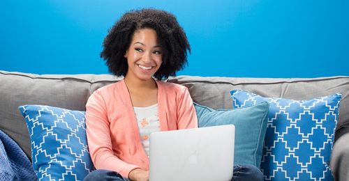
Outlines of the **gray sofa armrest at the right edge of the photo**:
{"type": "Polygon", "coordinates": [[[331,169],[337,181],[349,181],[349,132],[334,142],[331,169]]]}

